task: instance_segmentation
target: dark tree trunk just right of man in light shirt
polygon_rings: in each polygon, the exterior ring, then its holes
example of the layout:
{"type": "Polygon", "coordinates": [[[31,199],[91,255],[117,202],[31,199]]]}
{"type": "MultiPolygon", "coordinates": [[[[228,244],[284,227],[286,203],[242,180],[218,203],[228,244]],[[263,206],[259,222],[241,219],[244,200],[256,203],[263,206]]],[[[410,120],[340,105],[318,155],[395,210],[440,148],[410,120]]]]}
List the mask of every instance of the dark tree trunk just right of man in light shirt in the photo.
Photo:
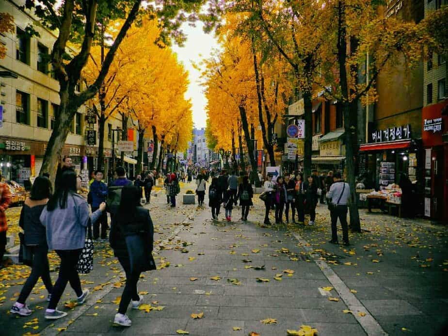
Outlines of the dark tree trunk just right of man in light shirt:
{"type": "Polygon", "coordinates": [[[356,180],[353,150],[353,133],[356,128],[352,129],[351,122],[351,104],[349,101],[349,85],[347,80],[347,25],[345,16],[345,2],[339,0],[338,3],[338,41],[337,53],[339,61],[339,77],[342,93],[342,109],[344,114],[344,130],[345,130],[345,164],[347,167],[347,182],[350,185],[350,226],[353,232],[361,232],[361,223],[359,220],[359,212],[356,198],[356,180]]]}

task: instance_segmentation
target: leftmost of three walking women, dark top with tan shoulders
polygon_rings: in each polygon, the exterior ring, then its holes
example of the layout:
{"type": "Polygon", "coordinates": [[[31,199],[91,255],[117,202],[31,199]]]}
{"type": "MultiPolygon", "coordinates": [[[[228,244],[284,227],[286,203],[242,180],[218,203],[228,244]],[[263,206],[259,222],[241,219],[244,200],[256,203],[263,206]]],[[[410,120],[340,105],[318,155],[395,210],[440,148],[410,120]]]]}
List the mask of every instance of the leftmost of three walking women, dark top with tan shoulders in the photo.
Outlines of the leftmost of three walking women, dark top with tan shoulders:
{"type": "Polygon", "coordinates": [[[19,316],[29,316],[32,310],[26,305],[26,300],[37,280],[42,278],[42,282],[47,288],[47,301],[51,297],[53,285],[51,284],[50,268],[48,265],[48,245],[45,226],[39,220],[42,210],[47,205],[51,196],[51,182],[47,177],[38,176],[34,180],[30,197],[25,200],[20,212],[19,226],[25,235],[25,245],[32,250],[32,269],[30,276],[23,285],[16,303],[12,306],[10,313],[19,316]]]}

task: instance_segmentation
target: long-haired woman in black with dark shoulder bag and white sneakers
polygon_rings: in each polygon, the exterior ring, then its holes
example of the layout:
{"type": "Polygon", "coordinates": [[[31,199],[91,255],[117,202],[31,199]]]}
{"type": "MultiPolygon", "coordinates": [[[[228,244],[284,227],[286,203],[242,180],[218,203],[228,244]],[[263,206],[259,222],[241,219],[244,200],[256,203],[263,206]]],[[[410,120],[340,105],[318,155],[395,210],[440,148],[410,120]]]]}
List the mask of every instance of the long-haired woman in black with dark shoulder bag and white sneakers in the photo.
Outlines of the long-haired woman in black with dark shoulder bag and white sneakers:
{"type": "Polygon", "coordinates": [[[135,186],[123,187],[120,206],[114,216],[109,236],[114,256],[126,273],[126,285],[113,326],[131,325],[132,322],[126,315],[129,303],[132,309],[139,309],[143,302],[143,296],[137,291],[140,274],[156,269],[152,257],[154,226],[149,210],[140,204],[140,197],[140,191],[135,186]]]}

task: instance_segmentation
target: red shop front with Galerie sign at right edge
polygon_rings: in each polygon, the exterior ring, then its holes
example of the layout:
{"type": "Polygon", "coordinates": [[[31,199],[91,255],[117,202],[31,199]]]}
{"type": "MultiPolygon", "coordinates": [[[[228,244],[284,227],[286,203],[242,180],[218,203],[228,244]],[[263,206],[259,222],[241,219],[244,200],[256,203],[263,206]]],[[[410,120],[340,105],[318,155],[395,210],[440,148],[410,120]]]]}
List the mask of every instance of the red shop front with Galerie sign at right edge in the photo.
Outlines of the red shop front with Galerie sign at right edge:
{"type": "MultiPolygon", "coordinates": [[[[422,111],[424,215],[448,223],[448,99],[422,111]]],[[[422,164],[423,165],[423,164],[422,164]]]]}

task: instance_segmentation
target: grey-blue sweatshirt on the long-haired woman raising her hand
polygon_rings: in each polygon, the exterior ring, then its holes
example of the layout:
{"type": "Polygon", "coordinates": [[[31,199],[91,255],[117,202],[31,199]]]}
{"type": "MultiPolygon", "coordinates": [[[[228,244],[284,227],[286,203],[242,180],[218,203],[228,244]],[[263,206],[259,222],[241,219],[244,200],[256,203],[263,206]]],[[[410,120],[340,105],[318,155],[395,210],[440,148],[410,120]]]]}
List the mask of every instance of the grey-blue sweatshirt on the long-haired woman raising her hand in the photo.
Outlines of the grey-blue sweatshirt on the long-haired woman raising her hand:
{"type": "Polygon", "coordinates": [[[82,249],[89,217],[91,222],[95,223],[100,215],[100,209],[90,214],[86,200],[75,193],[68,195],[67,207],[64,209],[59,208],[59,204],[53,211],[48,211],[45,207],[40,215],[40,221],[47,228],[48,249],[82,249]]]}

